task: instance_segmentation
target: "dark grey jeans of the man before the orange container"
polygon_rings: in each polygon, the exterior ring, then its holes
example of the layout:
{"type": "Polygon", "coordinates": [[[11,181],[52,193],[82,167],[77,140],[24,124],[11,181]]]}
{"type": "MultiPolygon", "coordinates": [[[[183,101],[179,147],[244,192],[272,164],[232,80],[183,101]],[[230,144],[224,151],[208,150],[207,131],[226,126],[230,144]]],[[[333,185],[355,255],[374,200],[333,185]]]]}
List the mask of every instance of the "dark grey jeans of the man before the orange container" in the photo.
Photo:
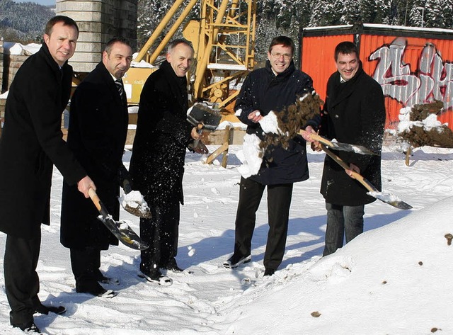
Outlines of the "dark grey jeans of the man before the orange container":
{"type": "Polygon", "coordinates": [[[342,206],[326,203],[327,228],[326,246],[323,256],[333,254],[343,246],[343,236],[346,243],[363,232],[363,215],[365,205],[342,206]]]}

